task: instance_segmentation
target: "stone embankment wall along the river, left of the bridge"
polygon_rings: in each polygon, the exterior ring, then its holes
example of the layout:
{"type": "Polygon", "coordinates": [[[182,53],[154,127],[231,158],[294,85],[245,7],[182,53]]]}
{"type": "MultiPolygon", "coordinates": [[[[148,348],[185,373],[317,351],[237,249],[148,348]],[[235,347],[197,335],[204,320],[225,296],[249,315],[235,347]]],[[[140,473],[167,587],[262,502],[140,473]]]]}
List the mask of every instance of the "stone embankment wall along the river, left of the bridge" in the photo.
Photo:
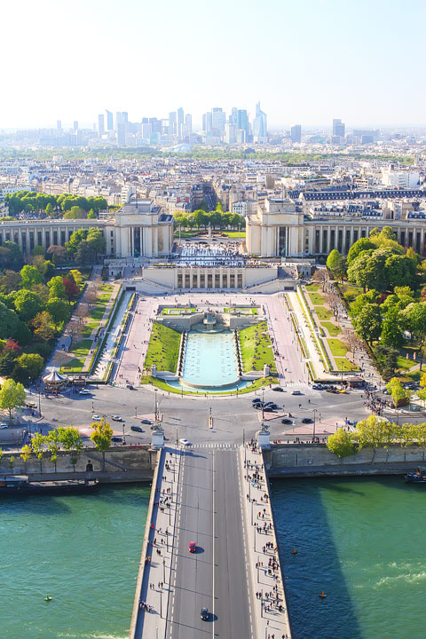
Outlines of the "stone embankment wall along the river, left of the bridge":
{"type": "Polygon", "coordinates": [[[117,446],[105,453],[84,448],[79,454],[59,451],[56,462],[50,454],[42,461],[31,455],[24,461],[18,453],[5,453],[0,461],[0,477],[28,475],[30,481],[98,478],[102,483],[151,481],[157,454],[150,446],[117,446]]]}

